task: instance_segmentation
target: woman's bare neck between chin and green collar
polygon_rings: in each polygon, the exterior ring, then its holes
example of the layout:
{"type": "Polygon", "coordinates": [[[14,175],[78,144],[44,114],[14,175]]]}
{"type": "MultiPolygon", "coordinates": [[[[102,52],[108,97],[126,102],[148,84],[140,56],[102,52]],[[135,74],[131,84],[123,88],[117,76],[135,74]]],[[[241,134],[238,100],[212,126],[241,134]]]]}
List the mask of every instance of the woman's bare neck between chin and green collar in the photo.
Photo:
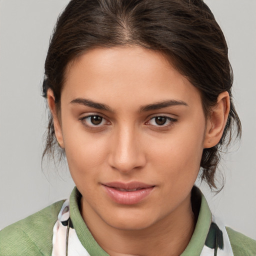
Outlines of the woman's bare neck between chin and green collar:
{"type": "Polygon", "coordinates": [[[93,237],[111,256],[180,255],[187,246],[195,226],[190,194],[169,215],[139,230],[117,229],[108,225],[97,214],[91,214],[89,205],[83,198],[81,211],[93,237]]]}

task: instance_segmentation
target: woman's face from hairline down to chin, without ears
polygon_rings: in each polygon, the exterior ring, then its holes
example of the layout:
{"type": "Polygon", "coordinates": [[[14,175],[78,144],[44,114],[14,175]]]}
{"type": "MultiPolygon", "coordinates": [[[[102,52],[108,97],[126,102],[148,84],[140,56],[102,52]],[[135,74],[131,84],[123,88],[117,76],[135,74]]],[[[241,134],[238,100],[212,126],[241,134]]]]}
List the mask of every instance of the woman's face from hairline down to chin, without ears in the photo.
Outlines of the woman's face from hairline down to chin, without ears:
{"type": "Polygon", "coordinates": [[[88,219],[139,229],[190,205],[205,141],[198,90],[159,52],[95,48],[68,68],[61,131],[88,219]]]}

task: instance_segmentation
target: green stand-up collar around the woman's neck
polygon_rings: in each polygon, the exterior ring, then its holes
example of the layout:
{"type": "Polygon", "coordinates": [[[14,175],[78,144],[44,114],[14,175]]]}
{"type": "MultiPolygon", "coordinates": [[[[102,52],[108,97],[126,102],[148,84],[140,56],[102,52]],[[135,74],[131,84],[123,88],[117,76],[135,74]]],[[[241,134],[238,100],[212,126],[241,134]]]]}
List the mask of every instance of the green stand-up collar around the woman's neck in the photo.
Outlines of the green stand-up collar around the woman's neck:
{"type": "MultiPolygon", "coordinates": [[[[193,187],[192,195],[194,195],[198,199],[200,209],[193,235],[185,250],[181,253],[180,256],[200,255],[211,223],[211,212],[209,206],[199,188],[193,187]]],[[[82,219],[78,207],[78,201],[80,199],[80,196],[81,195],[79,191],[76,187],[74,187],[69,200],[70,217],[76,234],[81,244],[90,255],[109,256],[109,254],[107,254],[95,241],[82,219]]]]}

